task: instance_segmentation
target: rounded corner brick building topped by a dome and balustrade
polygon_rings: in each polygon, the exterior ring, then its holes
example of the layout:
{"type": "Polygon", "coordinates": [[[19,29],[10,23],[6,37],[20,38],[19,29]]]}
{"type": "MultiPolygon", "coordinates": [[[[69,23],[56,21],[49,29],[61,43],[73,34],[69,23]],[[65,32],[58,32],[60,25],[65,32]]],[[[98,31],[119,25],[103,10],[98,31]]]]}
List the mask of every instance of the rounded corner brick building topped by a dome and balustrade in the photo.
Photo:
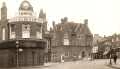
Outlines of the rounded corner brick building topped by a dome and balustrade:
{"type": "Polygon", "coordinates": [[[40,11],[34,16],[32,5],[24,0],[19,14],[7,19],[7,7],[3,3],[0,21],[0,67],[43,65],[50,56],[49,34],[47,33],[46,14],[40,11]],[[44,35],[44,36],[43,36],[44,35]]]}

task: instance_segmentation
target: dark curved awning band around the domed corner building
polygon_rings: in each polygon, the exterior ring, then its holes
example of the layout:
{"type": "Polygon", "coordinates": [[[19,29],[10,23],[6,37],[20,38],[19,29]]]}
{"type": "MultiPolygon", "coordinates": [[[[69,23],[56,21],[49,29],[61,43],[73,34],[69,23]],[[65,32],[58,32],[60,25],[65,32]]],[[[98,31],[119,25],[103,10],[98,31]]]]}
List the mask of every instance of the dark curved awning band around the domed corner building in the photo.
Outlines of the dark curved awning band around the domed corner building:
{"type": "MultiPolygon", "coordinates": [[[[45,41],[36,41],[36,40],[18,40],[20,48],[41,48],[45,49],[45,41]]],[[[0,43],[0,49],[10,49],[16,48],[16,40],[8,40],[0,43]]]]}

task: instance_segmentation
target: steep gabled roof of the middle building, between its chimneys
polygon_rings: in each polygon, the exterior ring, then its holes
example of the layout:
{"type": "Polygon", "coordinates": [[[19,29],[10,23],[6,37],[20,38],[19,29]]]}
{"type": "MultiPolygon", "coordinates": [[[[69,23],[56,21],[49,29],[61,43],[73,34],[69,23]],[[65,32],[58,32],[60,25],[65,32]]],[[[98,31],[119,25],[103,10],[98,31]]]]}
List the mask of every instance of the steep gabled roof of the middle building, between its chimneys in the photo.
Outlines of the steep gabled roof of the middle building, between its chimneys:
{"type": "Polygon", "coordinates": [[[56,32],[80,32],[84,34],[91,34],[91,31],[87,25],[74,22],[58,23],[55,25],[55,28],[53,28],[53,30],[56,32]]]}

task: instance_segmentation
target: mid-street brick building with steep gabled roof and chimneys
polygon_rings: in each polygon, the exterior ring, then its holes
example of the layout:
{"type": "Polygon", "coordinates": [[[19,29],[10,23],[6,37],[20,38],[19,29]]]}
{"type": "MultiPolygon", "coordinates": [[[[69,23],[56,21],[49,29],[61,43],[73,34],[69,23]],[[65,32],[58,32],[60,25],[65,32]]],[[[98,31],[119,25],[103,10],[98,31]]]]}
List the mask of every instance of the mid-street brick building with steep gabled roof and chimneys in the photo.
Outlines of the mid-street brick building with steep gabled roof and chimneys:
{"type": "Polygon", "coordinates": [[[92,49],[93,36],[88,28],[88,20],[84,24],[68,22],[67,17],[61,19],[61,23],[53,22],[50,31],[51,61],[71,61],[89,57],[92,49]]]}

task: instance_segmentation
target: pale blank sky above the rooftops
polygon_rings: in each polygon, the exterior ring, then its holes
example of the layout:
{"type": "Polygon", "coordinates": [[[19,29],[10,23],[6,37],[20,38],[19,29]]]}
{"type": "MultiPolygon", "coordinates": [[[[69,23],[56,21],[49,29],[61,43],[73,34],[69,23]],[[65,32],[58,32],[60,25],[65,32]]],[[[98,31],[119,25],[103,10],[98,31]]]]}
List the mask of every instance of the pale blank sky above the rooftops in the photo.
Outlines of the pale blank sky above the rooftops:
{"type": "MultiPolygon", "coordinates": [[[[8,19],[16,16],[23,0],[0,0],[6,2],[8,19]]],[[[52,21],[56,24],[61,18],[83,23],[88,19],[88,26],[93,34],[109,36],[120,33],[120,0],[27,0],[34,8],[36,16],[40,9],[47,15],[48,27],[52,21]]]]}

